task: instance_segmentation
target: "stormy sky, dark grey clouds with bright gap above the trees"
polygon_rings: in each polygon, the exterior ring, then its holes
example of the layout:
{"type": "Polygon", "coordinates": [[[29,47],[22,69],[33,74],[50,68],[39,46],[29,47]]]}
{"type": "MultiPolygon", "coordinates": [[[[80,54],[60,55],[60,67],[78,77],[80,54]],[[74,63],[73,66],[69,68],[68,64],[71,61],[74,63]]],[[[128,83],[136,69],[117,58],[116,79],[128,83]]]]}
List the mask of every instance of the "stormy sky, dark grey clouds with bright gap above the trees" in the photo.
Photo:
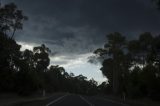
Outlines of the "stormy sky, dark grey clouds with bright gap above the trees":
{"type": "Polygon", "coordinates": [[[52,55],[51,64],[67,72],[83,74],[98,82],[106,78],[101,64],[91,64],[88,57],[103,47],[106,34],[120,32],[127,39],[140,33],[160,34],[160,11],[151,0],[1,0],[14,2],[29,20],[16,41],[22,49],[45,44],[52,55]]]}

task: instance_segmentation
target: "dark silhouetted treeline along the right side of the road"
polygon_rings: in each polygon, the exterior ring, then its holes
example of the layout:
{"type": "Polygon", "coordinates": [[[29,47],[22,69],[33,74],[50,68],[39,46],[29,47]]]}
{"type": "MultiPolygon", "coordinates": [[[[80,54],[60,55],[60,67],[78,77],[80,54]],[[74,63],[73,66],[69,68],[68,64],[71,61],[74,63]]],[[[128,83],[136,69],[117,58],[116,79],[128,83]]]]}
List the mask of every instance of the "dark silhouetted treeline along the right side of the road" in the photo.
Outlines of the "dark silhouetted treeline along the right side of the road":
{"type": "Polygon", "coordinates": [[[118,32],[106,37],[104,48],[94,52],[104,60],[101,71],[109,79],[106,93],[160,100],[160,35],[145,32],[129,41],[118,32]]]}

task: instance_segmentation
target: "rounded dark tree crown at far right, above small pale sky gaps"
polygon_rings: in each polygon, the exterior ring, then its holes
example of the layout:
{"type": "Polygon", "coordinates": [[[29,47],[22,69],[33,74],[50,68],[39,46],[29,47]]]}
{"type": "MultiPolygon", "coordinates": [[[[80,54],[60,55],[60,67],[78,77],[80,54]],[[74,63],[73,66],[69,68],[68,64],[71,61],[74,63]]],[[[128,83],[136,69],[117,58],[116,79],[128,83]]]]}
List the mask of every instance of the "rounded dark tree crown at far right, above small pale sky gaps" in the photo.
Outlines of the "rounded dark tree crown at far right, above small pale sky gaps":
{"type": "MultiPolygon", "coordinates": [[[[154,49],[154,38],[150,32],[140,34],[138,40],[131,40],[128,43],[128,50],[132,57],[133,65],[145,66],[147,58],[151,56],[154,49]]],[[[150,57],[151,58],[151,57],[150,57]]]]}

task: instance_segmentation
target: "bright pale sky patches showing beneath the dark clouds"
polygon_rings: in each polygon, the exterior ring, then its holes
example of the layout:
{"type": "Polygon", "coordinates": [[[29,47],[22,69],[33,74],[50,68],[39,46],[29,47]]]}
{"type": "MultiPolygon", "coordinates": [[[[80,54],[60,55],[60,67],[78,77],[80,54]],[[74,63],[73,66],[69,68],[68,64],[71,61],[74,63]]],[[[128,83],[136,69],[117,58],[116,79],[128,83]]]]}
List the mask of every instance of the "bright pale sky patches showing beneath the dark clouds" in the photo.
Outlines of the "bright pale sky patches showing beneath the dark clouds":
{"type": "MultiPolygon", "coordinates": [[[[21,51],[25,49],[33,50],[33,47],[38,46],[34,43],[18,42],[22,45],[21,51]]],[[[98,83],[106,81],[107,79],[102,75],[99,70],[101,65],[90,64],[88,57],[92,56],[92,53],[85,54],[55,54],[50,56],[50,65],[60,65],[65,68],[68,73],[74,73],[75,75],[82,74],[88,79],[94,78],[98,83]]]]}

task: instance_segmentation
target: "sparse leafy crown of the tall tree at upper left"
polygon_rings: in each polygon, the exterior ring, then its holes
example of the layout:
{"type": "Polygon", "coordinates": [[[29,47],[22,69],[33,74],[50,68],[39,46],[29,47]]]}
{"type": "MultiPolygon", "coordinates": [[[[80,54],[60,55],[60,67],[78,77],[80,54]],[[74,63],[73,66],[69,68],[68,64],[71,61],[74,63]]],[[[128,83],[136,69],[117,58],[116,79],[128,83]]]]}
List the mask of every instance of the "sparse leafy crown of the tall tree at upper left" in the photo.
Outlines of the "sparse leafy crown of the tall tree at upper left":
{"type": "Polygon", "coordinates": [[[0,30],[5,34],[10,31],[11,38],[14,37],[17,29],[23,28],[23,21],[27,19],[14,3],[0,7],[0,30]]]}

